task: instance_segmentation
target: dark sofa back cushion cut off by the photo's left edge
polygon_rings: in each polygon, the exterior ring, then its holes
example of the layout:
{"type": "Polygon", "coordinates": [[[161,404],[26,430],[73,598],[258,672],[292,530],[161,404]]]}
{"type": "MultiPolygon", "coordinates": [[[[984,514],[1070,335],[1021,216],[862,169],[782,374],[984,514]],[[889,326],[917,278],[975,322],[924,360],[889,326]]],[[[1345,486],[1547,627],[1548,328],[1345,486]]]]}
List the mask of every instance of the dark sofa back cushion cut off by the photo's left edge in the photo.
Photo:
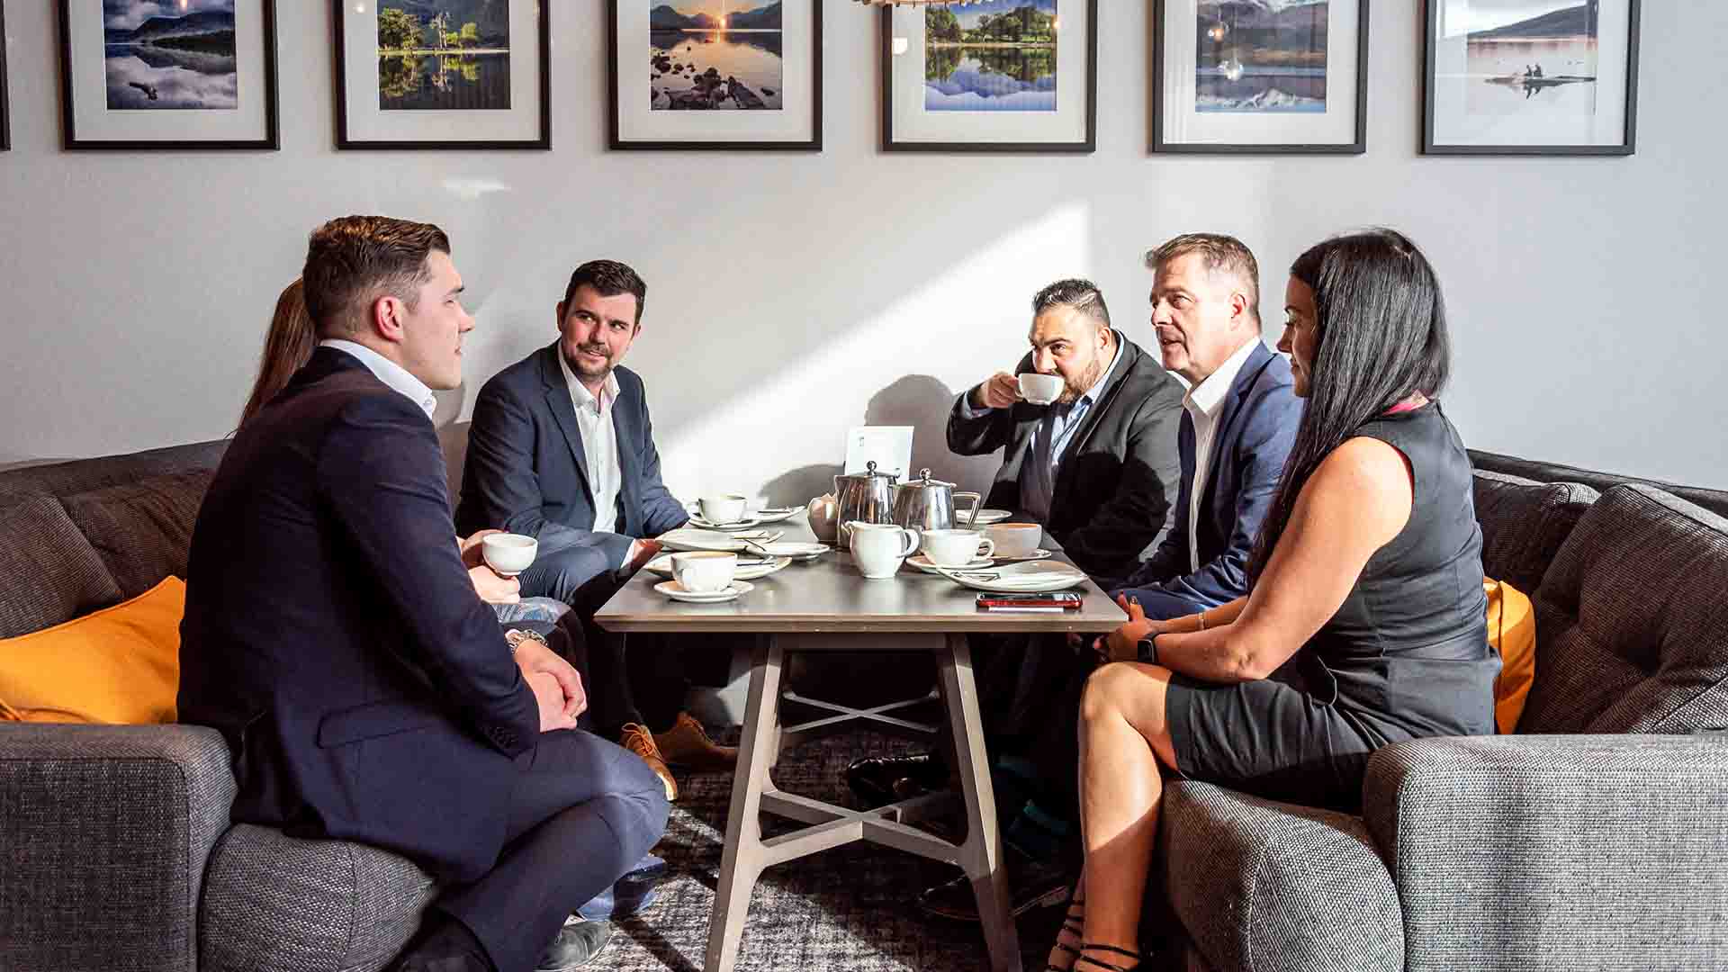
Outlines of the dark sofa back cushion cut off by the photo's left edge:
{"type": "Polygon", "coordinates": [[[40,631],[121,598],[114,576],[54,496],[0,502],[0,638],[40,631]]]}

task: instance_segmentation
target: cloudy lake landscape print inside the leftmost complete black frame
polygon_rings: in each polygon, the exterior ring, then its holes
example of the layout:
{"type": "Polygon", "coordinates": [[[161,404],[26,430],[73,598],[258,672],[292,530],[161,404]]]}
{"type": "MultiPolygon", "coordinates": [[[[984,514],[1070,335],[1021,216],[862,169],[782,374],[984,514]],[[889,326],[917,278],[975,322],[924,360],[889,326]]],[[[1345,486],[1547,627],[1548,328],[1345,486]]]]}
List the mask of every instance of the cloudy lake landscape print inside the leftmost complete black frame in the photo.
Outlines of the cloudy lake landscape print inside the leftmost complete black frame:
{"type": "Polygon", "coordinates": [[[107,107],[240,107],[233,3],[235,0],[102,0],[107,107]]]}

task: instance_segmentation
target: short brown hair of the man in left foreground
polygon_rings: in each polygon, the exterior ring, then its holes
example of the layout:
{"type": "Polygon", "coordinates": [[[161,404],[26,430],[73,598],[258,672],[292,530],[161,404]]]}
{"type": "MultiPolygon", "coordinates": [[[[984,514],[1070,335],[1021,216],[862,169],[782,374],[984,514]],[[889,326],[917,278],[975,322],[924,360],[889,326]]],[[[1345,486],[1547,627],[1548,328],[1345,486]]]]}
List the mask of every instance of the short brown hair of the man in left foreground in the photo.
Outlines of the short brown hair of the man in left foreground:
{"type": "Polygon", "coordinates": [[[420,287],[432,278],[427,258],[449,253],[449,237],[432,223],[389,216],[342,216],[313,230],[301,280],[306,313],[318,334],[328,334],[344,317],[392,296],[413,310],[420,287]]]}

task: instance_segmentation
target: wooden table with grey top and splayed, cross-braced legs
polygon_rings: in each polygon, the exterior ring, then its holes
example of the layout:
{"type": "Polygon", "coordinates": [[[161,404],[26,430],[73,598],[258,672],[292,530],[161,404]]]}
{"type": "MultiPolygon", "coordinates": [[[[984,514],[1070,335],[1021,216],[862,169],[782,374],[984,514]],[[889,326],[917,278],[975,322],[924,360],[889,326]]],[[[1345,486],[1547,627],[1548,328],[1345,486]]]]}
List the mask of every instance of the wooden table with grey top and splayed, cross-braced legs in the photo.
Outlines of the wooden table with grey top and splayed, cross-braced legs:
{"type": "MultiPolygon", "coordinates": [[[[814,540],[804,517],[776,524],[783,540],[814,540]]],[[[1052,547],[1045,538],[1045,547],[1052,547]]],[[[1059,553],[1058,553],[1059,557],[1059,553]]],[[[750,891],[762,870],[857,841],[899,847],[964,868],[978,896],[990,967],[1020,969],[1020,939],[1009,915],[1007,879],[995,827],[995,797],[990,763],[978,719],[973,683],[971,633],[1101,633],[1127,621],[1104,592],[1087,581],[1085,604],[1063,614],[1001,614],[978,611],[976,592],[954,581],[902,567],[892,579],[866,579],[847,552],[831,552],[814,562],[750,581],[755,590],[729,604],[681,604],[653,590],[664,578],[643,571],[624,585],[594,619],[608,631],[748,631],[757,638],[750,661],[750,700],[745,709],[743,740],[733,775],[733,803],[726,818],[726,849],[721,882],[708,924],[707,972],[731,972],[738,941],[750,908],[750,891]],[[892,635],[883,649],[881,635],[892,635]],[[931,652],[937,659],[937,692],[945,725],[931,726],[895,716],[930,695],[857,709],[781,690],[781,669],[791,652],[883,650],[931,652]],[[829,713],[809,723],[781,725],[781,700],[802,702],[829,713]],[[864,721],[869,728],[935,739],[947,747],[949,766],[961,783],[966,804],[966,839],[943,841],[912,827],[952,794],[926,794],[909,801],[855,811],[779,790],[769,777],[779,754],[817,735],[829,735],[864,721]],[[762,839],[760,815],[797,820],[809,827],[762,839]]]]}

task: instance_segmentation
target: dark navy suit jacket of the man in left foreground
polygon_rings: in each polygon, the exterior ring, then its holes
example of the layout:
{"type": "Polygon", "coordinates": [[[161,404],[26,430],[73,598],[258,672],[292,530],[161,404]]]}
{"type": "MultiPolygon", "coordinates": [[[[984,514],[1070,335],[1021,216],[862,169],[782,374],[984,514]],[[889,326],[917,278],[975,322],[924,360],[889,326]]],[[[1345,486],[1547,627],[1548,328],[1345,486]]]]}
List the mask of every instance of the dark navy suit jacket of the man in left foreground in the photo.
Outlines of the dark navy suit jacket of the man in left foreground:
{"type": "Polygon", "coordinates": [[[432,420],[318,348],[199,508],[180,718],[235,759],[233,820],[473,880],[505,839],[534,694],[468,581],[432,420]]]}

